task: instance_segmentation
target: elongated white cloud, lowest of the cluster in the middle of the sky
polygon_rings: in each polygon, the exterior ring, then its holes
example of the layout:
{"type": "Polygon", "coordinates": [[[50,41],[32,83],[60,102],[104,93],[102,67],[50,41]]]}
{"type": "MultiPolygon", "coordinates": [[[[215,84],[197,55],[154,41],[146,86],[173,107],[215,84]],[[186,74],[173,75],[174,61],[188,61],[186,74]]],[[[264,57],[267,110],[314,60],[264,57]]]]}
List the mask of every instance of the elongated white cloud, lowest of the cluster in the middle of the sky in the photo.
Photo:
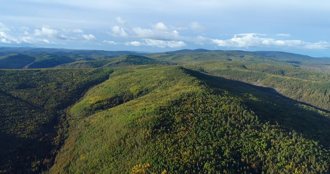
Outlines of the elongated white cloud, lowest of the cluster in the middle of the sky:
{"type": "Polygon", "coordinates": [[[133,41],[133,42],[126,42],[125,45],[133,45],[133,46],[156,46],[159,48],[181,48],[186,46],[183,41],[162,41],[162,40],[153,40],[153,39],[143,39],[144,42],[133,41]]]}

